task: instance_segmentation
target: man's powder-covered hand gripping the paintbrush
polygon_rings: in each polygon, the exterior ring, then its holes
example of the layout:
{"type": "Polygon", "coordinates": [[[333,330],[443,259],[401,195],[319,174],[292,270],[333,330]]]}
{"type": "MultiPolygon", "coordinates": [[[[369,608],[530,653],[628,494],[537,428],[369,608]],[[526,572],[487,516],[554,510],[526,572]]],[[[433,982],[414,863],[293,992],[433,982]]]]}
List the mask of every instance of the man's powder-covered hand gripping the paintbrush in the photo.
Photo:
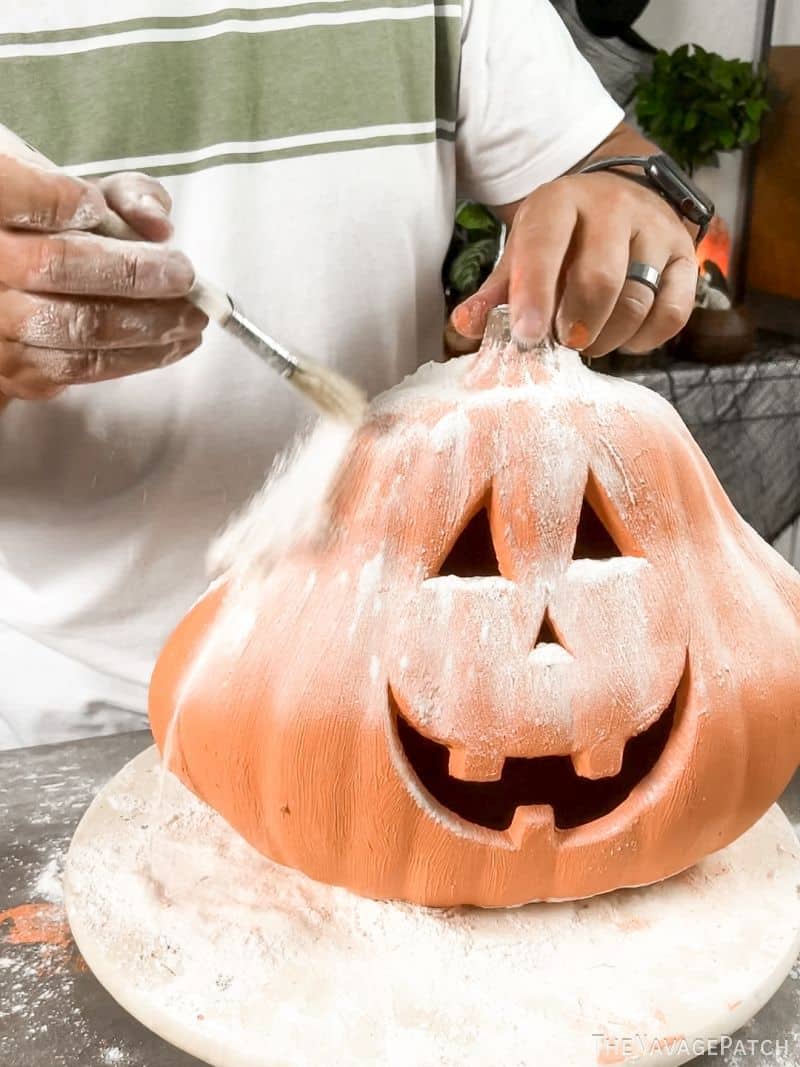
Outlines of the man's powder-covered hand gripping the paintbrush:
{"type": "Polygon", "coordinates": [[[185,255],[166,191],[142,174],[97,185],[0,156],[0,410],[67,385],[174,363],[201,343],[206,316],[181,298],[185,255]],[[144,240],[86,233],[112,208],[144,240]]]}

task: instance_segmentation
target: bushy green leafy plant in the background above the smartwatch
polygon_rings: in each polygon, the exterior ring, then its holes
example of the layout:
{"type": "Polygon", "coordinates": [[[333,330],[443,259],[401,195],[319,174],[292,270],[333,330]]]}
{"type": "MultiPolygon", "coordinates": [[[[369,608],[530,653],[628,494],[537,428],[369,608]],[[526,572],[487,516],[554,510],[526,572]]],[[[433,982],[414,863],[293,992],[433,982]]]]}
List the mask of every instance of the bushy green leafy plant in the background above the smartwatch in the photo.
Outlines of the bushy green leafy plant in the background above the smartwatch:
{"type": "Polygon", "coordinates": [[[719,165],[720,152],[754,144],[769,108],[764,68],[700,45],[657,52],[636,90],[640,126],[690,174],[719,165]]]}

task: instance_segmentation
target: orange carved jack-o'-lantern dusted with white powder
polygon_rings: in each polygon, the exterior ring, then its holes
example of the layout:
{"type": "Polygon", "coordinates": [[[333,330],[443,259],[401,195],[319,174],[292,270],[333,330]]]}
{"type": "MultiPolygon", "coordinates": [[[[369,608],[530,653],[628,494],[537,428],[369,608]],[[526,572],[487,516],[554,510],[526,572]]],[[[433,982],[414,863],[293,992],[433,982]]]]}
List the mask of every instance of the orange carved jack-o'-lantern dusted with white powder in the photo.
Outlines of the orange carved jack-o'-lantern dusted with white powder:
{"type": "Polygon", "coordinates": [[[421,904],[583,896],[747,829],[800,755],[800,577],[672,408],[565,349],[380,398],[320,541],[214,587],[154,676],[256,848],[421,904]]]}

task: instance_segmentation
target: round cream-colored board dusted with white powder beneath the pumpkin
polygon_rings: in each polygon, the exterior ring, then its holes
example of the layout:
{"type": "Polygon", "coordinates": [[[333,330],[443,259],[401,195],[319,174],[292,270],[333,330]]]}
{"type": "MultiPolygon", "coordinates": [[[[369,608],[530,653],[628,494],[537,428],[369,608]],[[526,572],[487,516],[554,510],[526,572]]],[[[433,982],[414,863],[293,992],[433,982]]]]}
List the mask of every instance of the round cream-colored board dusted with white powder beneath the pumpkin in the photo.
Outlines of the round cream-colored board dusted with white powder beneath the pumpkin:
{"type": "Polygon", "coordinates": [[[93,801],[67,913],[109,992],[215,1067],[683,1064],[800,949],[800,847],[777,807],[658,886],[442,911],[271,863],[160,778],[149,749],[93,801]]]}

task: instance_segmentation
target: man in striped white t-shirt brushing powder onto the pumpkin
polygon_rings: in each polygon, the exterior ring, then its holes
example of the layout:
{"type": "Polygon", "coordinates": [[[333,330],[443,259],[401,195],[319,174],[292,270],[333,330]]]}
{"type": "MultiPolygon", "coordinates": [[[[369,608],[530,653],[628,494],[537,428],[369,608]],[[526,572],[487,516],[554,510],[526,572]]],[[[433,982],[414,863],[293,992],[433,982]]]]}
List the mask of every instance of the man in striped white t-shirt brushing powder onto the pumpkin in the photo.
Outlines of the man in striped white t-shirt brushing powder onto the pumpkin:
{"type": "Polygon", "coordinates": [[[204,332],[195,268],[372,394],[441,354],[457,189],[513,223],[453,316],[473,341],[509,302],[525,344],[647,349],[693,300],[692,226],[619,172],[569,173],[653,148],[547,0],[114,16],[34,2],[0,35],[0,117],[64,168],[0,160],[0,745],[144,723],[209,540],[309,416],[204,332]],[[143,242],[92,235],[108,207],[143,242]]]}

